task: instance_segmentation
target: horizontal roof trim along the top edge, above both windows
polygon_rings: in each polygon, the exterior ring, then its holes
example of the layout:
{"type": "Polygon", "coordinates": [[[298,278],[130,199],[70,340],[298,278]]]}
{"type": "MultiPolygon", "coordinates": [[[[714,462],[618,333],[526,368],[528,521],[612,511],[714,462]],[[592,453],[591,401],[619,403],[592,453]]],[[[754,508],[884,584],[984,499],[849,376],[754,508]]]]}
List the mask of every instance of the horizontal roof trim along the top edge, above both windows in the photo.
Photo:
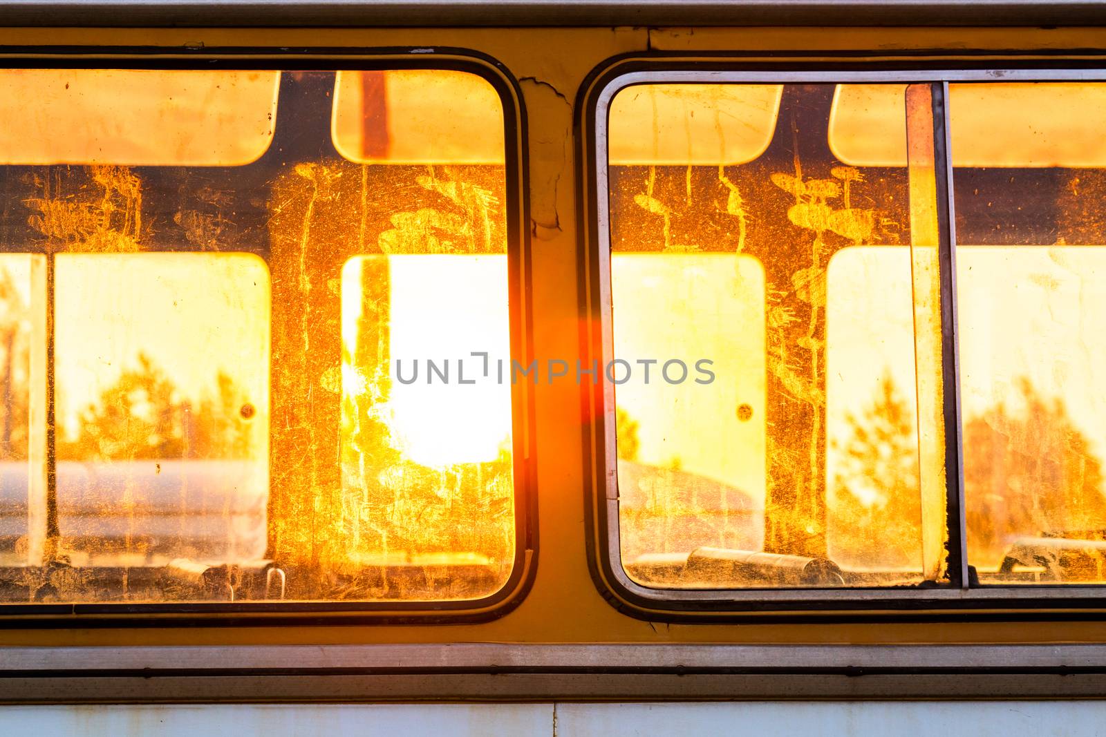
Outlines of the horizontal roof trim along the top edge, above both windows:
{"type": "Polygon", "coordinates": [[[1106,0],[0,0],[3,25],[1063,25],[1106,0]]]}

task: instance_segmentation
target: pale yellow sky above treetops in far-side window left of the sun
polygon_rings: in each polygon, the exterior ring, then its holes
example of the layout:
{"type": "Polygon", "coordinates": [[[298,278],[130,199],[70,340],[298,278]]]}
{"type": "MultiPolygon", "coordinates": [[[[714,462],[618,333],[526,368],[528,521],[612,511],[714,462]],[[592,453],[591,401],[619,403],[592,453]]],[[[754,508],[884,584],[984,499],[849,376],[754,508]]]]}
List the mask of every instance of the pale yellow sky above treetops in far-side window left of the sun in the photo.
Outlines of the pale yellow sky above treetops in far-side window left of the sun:
{"type": "MultiPolygon", "coordinates": [[[[58,257],[58,415],[73,430],[139,355],[199,398],[219,371],[269,406],[269,270],[243,253],[64,254],[58,257]],[[90,308],[92,305],[96,307],[90,308]],[[69,387],[80,388],[80,391],[69,387]]],[[[264,456],[268,420],[252,422],[264,456]]]]}

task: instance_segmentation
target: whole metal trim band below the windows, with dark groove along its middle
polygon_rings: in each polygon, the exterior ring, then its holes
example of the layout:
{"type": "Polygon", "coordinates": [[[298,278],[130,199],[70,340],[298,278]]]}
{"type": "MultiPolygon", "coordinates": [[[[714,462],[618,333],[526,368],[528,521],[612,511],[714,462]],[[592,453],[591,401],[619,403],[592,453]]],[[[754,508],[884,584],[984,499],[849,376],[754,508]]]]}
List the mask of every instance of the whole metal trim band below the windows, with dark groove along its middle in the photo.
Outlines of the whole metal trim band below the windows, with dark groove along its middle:
{"type": "Polygon", "coordinates": [[[1100,697],[1102,644],[15,646],[0,704],[1100,697]]]}

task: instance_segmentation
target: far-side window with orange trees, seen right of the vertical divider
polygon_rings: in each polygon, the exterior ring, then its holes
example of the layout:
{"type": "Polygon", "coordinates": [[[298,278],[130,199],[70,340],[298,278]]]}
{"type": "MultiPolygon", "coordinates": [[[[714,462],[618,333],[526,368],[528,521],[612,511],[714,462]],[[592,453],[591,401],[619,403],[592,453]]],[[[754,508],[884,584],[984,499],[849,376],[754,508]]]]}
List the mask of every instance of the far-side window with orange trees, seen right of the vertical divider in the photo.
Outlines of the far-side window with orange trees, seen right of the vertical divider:
{"type": "Polygon", "coordinates": [[[958,257],[969,562],[1012,558],[1014,582],[1106,580],[1106,248],[958,257]]]}

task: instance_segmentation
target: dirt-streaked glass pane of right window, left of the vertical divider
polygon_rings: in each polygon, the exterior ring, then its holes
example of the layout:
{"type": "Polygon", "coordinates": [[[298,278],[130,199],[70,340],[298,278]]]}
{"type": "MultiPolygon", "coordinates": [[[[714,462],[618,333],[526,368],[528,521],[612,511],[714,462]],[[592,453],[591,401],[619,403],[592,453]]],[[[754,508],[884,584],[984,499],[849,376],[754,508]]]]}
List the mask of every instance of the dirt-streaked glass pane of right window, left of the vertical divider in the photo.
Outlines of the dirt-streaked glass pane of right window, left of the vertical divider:
{"type": "MultiPolygon", "coordinates": [[[[639,583],[930,578],[916,188],[905,162],[857,167],[835,156],[837,94],[650,84],[612,102],[606,380],[620,555],[639,583]]],[[[878,146],[905,136],[906,123],[900,105],[865,135],[878,146]]]]}

